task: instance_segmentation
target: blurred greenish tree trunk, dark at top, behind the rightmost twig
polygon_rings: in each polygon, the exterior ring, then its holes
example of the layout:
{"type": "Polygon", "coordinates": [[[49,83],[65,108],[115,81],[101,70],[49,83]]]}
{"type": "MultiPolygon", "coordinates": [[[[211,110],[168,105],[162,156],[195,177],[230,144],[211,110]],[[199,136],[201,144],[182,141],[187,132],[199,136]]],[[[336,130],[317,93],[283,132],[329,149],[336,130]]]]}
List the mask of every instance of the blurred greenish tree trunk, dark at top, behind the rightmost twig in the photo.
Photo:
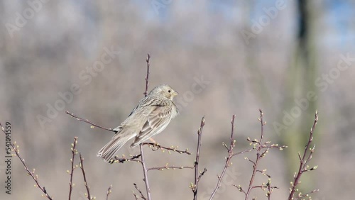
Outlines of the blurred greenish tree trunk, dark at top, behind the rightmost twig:
{"type": "MultiPolygon", "coordinates": [[[[288,182],[292,181],[294,172],[298,169],[300,161],[297,157],[297,152],[305,150],[310,128],[312,126],[315,110],[317,109],[317,101],[305,101],[302,106],[296,104],[295,101],[300,102],[301,99],[307,99],[307,93],[312,91],[319,96],[317,87],[315,86],[315,79],[317,78],[317,29],[315,26],[315,16],[320,8],[315,9],[312,2],[306,0],[298,1],[299,12],[299,32],[297,35],[297,42],[295,43],[294,60],[290,64],[288,75],[288,83],[285,87],[285,104],[283,111],[293,116],[292,112],[300,110],[300,113],[295,114],[294,123],[287,127],[283,133],[283,143],[289,146],[286,151],[287,157],[287,177],[288,182]],[[299,109],[297,109],[299,108],[299,109]],[[290,180],[291,179],[291,180],[290,180]]],[[[284,113],[281,113],[285,116],[284,113]]],[[[313,188],[310,184],[312,174],[302,177],[302,184],[300,189],[313,188]]]]}

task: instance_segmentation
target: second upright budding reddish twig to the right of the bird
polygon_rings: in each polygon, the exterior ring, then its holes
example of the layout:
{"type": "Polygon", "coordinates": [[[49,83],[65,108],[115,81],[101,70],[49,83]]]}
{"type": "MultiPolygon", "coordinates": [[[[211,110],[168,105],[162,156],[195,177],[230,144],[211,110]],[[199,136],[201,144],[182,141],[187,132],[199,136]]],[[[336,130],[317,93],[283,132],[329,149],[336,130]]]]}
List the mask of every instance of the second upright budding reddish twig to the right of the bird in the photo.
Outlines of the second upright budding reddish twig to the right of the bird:
{"type": "Polygon", "coordinates": [[[231,137],[229,138],[229,140],[230,140],[229,148],[227,148],[226,144],[223,143],[224,147],[228,151],[228,157],[226,158],[226,163],[224,165],[224,168],[222,170],[221,175],[217,176],[218,177],[218,182],[217,182],[216,187],[214,188],[214,191],[211,194],[211,197],[209,197],[209,200],[213,199],[214,194],[216,194],[216,192],[219,189],[219,187],[221,187],[221,182],[222,182],[222,179],[224,177],[224,174],[226,173],[226,168],[231,165],[231,158],[234,156],[233,148],[236,146],[236,140],[233,139],[233,135],[234,135],[234,119],[235,118],[236,118],[235,115],[231,117],[231,137]]]}

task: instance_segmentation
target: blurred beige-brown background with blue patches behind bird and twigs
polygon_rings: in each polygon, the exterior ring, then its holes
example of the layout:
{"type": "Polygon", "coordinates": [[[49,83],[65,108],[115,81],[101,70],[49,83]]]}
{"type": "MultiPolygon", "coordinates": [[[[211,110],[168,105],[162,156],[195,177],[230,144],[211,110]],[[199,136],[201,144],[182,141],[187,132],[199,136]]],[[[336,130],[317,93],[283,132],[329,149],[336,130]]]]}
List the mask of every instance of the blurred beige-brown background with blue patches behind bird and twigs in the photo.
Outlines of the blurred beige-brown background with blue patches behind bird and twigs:
{"type": "MultiPolygon", "coordinates": [[[[192,166],[197,128],[206,118],[200,168],[200,198],[207,199],[222,172],[236,115],[236,150],[246,137],[260,137],[258,109],[267,121],[265,137],[288,145],[270,150],[273,199],[287,199],[297,152],[303,151],[316,109],[317,144],[301,191],[320,189],[313,199],[351,199],[355,179],[355,4],[354,1],[1,1],[1,123],[12,124],[12,141],[40,184],[55,199],[69,191],[70,144],[84,157],[91,194],[134,199],[143,191],[141,165],[108,165],[97,156],[112,133],[76,121],[70,111],[115,128],[143,97],[146,56],[151,54],[149,89],[170,84],[180,95],[180,116],[154,139],[189,148],[192,155],[146,150],[148,166],[192,166]]],[[[5,140],[0,139],[1,156],[5,140]]],[[[129,145],[119,155],[135,154],[129,145]]],[[[234,157],[215,199],[243,199],[231,184],[246,188],[255,153],[234,157]]],[[[5,158],[4,158],[5,159],[5,158]]],[[[75,160],[78,163],[79,160],[75,160]]],[[[0,162],[0,199],[39,199],[21,162],[12,159],[11,195],[5,194],[0,162]]],[[[193,170],[149,172],[153,199],[192,199],[193,170]]],[[[258,174],[255,184],[267,182],[258,174]]],[[[72,199],[85,199],[75,170],[72,199]]],[[[258,199],[266,191],[256,189],[258,199]]]]}

